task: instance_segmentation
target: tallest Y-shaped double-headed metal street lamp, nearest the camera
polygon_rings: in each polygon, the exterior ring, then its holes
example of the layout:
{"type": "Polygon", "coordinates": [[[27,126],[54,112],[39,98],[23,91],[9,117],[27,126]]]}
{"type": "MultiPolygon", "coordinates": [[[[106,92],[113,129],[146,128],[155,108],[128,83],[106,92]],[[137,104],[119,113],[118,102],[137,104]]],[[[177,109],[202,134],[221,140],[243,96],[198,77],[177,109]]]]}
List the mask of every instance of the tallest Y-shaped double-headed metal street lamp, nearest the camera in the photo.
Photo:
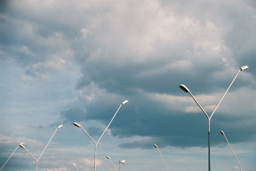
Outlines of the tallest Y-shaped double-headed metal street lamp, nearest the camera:
{"type": "MultiPolygon", "coordinates": [[[[248,66],[247,65],[244,65],[242,66],[237,75],[239,74],[240,71],[242,70],[247,70],[248,69],[248,66]]],[[[210,120],[211,120],[211,117],[212,115],[214,114],[214,112],[216,111],[217,107],[219,106],[220,102],[222,101],[222,99],[224,98],[224,96],[226,95],[226,93],[228,92],[229,88],[231,87],[231,85],[233,84],[234,80],[236,79],[237,75],[234,77],[233,81],[231,82],[231,84],[229,85],[228,89],[226,90],[226,92],[224,93],[224,95],[222,96],[222,98],[220,99],[218,105],[216,106],[216,108],[214,109],[214,111],[212,112],[211,116],[209,117],[207,115],[207,113],[204,111],[204,109],[199,105],[199,103],[197,102],[197,100],[194,98],[194,96],[190,93],[189,89],[181,84],[179,85],[179,87],[186,93],[189,93],[191,95],[191,97],[195,100],[195,102],[197,103],[197,105],[201,108],[201,110],[204,112],[204,114],[206,115],[207,119],[208,119],[208,170],[210,171],[211,170],[211,167],[210,167],[210,120]]]]}

